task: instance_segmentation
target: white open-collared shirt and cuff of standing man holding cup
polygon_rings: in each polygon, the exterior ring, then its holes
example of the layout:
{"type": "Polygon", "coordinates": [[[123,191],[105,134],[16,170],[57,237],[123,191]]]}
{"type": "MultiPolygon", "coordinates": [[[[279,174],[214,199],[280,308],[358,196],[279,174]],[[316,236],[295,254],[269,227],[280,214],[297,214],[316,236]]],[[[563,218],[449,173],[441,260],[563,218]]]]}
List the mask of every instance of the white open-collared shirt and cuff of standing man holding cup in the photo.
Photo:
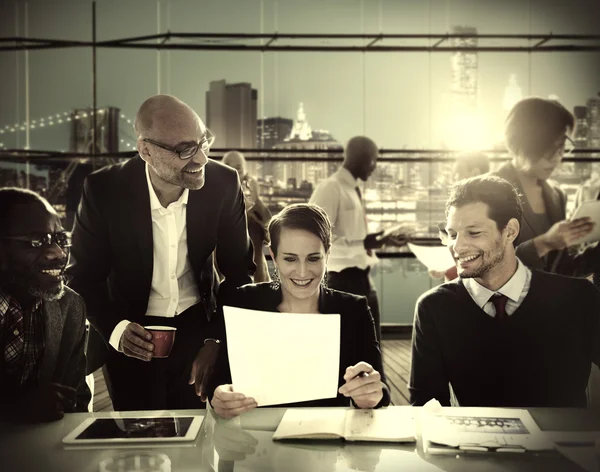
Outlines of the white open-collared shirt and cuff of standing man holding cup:
{"type": "MultiPolygon", "coordinates": [[[[146,181],[152,215],[153,269],[146,316],[174,317],[200,300],[200,292],[188,257],[186,207],[189,190],[184,189],[177,201],[164,208],[146,164],[146,181]]],[[[109,343],[115,349],[130,323],[123,320],[113,330],[109,343]]]]}

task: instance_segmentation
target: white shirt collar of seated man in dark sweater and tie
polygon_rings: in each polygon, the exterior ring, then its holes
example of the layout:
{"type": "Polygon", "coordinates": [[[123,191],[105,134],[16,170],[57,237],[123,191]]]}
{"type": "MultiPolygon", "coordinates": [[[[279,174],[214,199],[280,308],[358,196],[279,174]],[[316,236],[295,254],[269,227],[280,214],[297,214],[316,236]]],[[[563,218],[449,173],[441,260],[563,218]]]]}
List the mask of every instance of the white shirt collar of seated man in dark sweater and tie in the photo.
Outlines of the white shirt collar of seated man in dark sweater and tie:
{"type": "Polygon", "coordinates": [[[506,301],[505,311],[507,315],[512,315],[521,306],[521,303],[523,303],[529,292],[531,270],[517,259],[517,271],[508,282],[495,292],[484,287],[474,278],[462,279],[462,282],[469,295],[471,295],[471,298],[477,303],[477,306],[491,317],[496,316],[496,307],[490,298],[497,293],[506,295],[508,300],[506,301]]]}

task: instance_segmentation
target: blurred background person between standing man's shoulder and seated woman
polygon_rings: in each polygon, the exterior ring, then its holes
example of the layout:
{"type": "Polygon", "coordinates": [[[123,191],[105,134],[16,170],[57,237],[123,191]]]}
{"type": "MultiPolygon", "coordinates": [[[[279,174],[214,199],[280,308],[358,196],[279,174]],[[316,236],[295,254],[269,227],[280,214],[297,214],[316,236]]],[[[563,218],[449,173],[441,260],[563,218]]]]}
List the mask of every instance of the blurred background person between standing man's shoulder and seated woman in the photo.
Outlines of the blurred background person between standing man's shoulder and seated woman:
{"type": "Polygon", "coordinates": [[[258,182],[248,175],[244,155],[238,151],[229,151],[223,156],[223,164],[237,170],[244,190],[246,213],[248,215],[248,233],[254,246],[254,263],[256,264],[254,281],[256,283],[268,282],[271,278],[269,277],[264,246],[268,243],[266,226],[271,219],[271,212],[260,199],[258,182]]]}

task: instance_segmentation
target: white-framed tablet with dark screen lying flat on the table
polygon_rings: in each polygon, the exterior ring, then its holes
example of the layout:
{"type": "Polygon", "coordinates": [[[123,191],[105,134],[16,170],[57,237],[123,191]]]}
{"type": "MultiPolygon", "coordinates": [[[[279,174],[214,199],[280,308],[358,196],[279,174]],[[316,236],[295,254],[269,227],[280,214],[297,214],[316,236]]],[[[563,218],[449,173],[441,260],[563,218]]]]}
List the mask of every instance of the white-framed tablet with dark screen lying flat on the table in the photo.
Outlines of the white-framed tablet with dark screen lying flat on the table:
{"type": "Polygon", "coordinates": [[[127,444],[193,441],[204,416],[88,418],[63,439],[65,444],[127,444]]]}

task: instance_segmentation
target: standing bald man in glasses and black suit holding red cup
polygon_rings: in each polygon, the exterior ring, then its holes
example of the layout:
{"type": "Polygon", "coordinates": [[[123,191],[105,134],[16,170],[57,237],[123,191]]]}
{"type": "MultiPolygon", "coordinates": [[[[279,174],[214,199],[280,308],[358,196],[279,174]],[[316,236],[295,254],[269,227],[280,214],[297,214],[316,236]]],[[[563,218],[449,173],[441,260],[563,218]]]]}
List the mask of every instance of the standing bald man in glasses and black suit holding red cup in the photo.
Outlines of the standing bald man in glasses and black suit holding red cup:
{"type": "Polygon", "coordinates": [[[208,159],[214,136],[181,100],[150,97],[134,129],[139,155],[85,181],[71,287],[110,346],[115,410],[204,408],[223,337],[217,291],[252,282],[255,269],[244,196],[235,170],[208,159]],[[177,328],[169,357],[153,358],[148,325],[177,328]]]}

